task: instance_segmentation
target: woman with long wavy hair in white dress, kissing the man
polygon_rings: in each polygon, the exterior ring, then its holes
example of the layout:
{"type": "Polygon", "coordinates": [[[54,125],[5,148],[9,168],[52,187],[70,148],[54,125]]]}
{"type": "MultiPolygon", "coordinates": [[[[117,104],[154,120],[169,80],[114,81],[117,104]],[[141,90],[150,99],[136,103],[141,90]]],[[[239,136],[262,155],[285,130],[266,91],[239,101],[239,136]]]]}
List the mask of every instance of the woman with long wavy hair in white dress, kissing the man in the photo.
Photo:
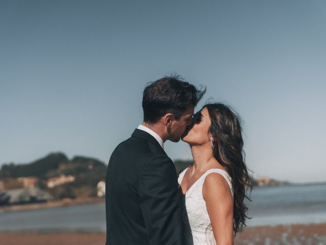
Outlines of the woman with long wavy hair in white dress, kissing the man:
{"type": "Polygon", "coordinates": [[[239,117],[224,104],[207,104],[182,140],[194,158],[178,178],[187,244],[233,244],[234,235],[246,226],[243,200],[251,188],[239,117]]]}

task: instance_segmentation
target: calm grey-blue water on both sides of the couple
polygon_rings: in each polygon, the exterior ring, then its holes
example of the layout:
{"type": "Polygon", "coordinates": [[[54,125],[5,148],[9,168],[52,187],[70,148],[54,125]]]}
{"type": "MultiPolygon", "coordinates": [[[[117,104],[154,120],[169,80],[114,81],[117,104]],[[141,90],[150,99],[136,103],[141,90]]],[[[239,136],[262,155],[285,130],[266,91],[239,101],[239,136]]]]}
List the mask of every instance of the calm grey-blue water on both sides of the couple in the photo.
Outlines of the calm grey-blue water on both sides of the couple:
{"type": "MultiPolygon", "coordinates": [[[[256,187],[247,201],[248,226],[326,223],[326,183],[256,187]]],[[[105,204],[0,213],[0,232],[105,233],[105,204]]]]}

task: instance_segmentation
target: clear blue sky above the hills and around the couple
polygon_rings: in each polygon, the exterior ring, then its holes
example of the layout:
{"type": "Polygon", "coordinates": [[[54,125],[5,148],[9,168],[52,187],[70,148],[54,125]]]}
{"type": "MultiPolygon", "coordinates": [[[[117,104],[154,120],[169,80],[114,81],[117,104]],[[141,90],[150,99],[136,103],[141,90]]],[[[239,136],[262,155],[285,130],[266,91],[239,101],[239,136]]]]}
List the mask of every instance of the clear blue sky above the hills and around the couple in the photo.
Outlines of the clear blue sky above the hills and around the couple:
{"type": "MultiPolygon", "coordinates": [[[[0,164],[107,163],[172,71],[244,121],[254,176],[326,181],[325,1],[0,2],[0,164]]],[[[184,142],[165,144],[189,159],[184,142]]]]}

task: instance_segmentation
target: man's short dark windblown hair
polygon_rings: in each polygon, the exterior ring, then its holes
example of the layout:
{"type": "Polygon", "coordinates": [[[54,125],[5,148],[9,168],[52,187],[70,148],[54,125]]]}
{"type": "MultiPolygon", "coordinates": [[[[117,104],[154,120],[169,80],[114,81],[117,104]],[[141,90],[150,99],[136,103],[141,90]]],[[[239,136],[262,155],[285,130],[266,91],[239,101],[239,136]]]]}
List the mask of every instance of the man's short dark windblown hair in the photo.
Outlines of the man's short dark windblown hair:
{"type": "Polygon", "coordinates": [[[167,113],[178,120],[188,106],[197,105],[205,92],[206,87],[200,90],[179,75],[151,82],[143,93],[144,122],[156,124],[167,113]]]}

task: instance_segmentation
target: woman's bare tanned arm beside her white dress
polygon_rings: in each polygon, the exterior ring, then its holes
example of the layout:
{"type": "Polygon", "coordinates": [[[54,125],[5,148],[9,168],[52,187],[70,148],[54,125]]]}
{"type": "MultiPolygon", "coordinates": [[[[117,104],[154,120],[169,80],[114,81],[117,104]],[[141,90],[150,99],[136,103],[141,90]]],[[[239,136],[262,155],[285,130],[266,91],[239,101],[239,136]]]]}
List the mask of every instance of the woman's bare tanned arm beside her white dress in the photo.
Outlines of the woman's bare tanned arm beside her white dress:
{"type": "Polygon", "coordinates": [[[207,175],[203,185],[203,198],[216,243],[233,244],[233,199],[230,187],[222,175],[207,175]]]}

